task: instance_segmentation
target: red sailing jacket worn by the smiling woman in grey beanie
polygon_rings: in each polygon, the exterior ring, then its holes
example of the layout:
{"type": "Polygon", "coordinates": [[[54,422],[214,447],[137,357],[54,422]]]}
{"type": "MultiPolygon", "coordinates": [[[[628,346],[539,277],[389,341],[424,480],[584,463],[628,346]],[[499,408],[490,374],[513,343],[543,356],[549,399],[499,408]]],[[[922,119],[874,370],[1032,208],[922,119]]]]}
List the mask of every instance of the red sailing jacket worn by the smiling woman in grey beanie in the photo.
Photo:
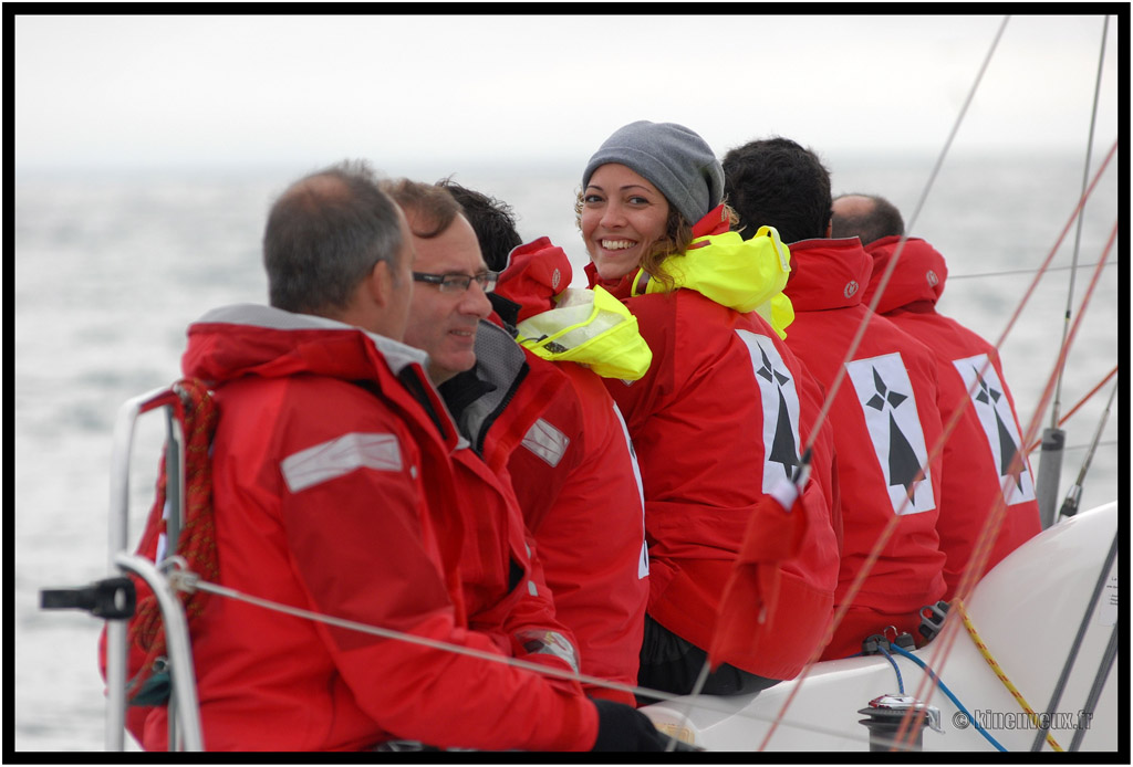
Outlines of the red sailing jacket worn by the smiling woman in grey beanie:
{"type": "MultiPolygon", "coordinates": [[[[699,249],[709,264],[710,249],[710,241],[699,249]]],[[[594,284],[593,265],[587,273],[594,284]]],[[[628,276],[603,286],[637,317],[653,364],[639,381],[606,380],[606,388],[625,416],[641,466],[648,611],[709,649],[749,519],[798,464],[821,397],[756,312],[721,305],[692,286],[629,298],[630,283],[628,276]]],[[[731,653],[714,657],[714,665],[791,679],[823,638],[838,562],[828,458],[819,450],[803,493],[807,525],[799,552],[778,566],[778,609],[766,618],[774,630],[746,646],[729,645],[731,653]]]]}

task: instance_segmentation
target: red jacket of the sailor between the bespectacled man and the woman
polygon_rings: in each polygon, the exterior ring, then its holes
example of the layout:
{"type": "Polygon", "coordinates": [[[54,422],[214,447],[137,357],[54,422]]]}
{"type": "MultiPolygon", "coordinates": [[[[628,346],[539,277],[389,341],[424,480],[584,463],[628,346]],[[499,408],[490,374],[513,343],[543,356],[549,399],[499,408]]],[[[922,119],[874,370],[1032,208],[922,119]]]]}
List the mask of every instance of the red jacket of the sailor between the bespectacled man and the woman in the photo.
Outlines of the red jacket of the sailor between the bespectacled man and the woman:
{"type": "MultiPolygon", "coordinates": [[[[534,356],[534,355],[533,355],[534,356]]],[[[579,643],[582,672],[636,686],[649,594],[640,480],[621,415],[591,371],[546,362],[569,382],[508,464],[554,594],[579,643]]],[[[633,705],[629,692],[588,695],[633,705]]]]}

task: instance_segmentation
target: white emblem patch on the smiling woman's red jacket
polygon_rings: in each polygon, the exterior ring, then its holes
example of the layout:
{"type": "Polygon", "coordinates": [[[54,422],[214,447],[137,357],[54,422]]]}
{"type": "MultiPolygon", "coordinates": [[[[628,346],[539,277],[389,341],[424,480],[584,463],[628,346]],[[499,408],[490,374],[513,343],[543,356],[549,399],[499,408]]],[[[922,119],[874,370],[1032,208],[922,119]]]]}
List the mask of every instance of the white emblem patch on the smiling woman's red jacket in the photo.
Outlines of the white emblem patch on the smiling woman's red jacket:
{"type": "Polygon", "coordinates": [[[751,355],[751,370],[764,408],[763,491],[772,492],[799,465],[799,389],[794,374],[775,348],[775,342],[750,330],[735,334],[751,355]]]}

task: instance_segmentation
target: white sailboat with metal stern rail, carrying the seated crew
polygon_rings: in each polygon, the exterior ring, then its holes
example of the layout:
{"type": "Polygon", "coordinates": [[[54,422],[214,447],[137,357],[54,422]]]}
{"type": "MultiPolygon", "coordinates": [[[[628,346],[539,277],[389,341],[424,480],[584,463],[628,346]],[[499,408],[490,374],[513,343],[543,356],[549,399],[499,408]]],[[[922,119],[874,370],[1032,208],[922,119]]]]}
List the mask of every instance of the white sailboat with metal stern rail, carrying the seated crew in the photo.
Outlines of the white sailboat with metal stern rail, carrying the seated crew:
{"type": "MultiPolygon", "coordinates": [[[[167,472],[184,466],[177,393],[126,403],[114,433],[111,562],[96,588],[54,592],[53,606],[88,606],[108,619],[108,748],[123,744],[125,624],[133,606],[121,574],[157,595],[169,639],[180,748],[205,747],[197,717],[189,632],[177,592],[202,586],[176,561],[131,553],[128,474],[137,420],[162,412],[167,472]],[[82,592],[82,593],[79,593],[82,592]],[[61,604],[70,601],[83,604],[61,604]]],[[[1057,441],[1050,438],[1050,441],[1057,441]]],[[[1042,472],[1040,469],[1040,477],[1042,472]]],[[[1057,481],[1055,481],[1057,489],[1057,481]]],[[[171,484],[172,506],[184,501],[171,484]]],[[[182,489],[184,490],[184,489],[182,489]]],[[[1075,509],[1076,511],[1076,509],[1075,509]]],[[[929,611],[928,646],[883,637],[871,655],[813,663],[753,696],[685,696],[646,706],[658,729],[708,751],[1091,750],[1117,751],[1118,505],[1055,523],[999,565],[962,604],[929,611]]]]}

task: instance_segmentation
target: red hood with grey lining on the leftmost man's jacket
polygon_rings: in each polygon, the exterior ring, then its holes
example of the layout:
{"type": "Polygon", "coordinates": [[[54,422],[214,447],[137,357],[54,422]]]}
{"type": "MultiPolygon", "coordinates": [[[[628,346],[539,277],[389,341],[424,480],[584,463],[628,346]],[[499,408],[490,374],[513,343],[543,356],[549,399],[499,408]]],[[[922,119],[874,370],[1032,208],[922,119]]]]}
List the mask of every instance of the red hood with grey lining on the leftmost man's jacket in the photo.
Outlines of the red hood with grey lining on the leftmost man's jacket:
{"type": "Polygon", "coordinates": [[[189,326],[188,336],[181,369],[210,385],[299,372],[374,379],[376,369],[398,374],[427,360],[419,350],[350,325],[258,304],[214,309],[189,326]]]}

